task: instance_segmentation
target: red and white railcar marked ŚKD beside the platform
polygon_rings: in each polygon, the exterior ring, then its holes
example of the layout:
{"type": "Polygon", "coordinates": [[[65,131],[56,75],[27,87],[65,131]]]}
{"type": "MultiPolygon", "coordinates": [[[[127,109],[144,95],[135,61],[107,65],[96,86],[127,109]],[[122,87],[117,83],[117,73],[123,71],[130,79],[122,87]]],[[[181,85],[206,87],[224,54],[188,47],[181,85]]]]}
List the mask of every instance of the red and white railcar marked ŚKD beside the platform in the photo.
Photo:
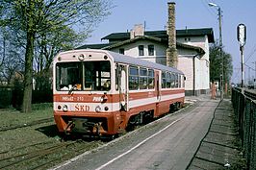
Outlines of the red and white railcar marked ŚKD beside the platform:
{"type": "Polygon", "coordinates": [[[105,50],[73,50],[53,62],[60,133],[114,135],[184,104],[184,74],[105,50]]]}

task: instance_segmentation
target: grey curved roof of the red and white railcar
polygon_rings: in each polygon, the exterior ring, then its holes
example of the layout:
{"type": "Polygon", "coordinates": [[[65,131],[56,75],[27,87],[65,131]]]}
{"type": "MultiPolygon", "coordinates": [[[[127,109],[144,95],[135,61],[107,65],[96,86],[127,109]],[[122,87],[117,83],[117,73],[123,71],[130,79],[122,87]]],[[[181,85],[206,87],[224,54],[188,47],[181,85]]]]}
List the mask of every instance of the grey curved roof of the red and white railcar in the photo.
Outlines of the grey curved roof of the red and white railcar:
{"type": "MultiPolygon", "coordinates": [[[[138,58],[122,55],[122,54],[115,53],[115,52],[108,51],[108,50],[79,49],[79,50],[73,50],[73,51],[66,51],[61,54],[75,53],[75,52],[105,53],[105,54],[110,55],[114,59],[115,62],[122,62],[122,63],[132,64],[132,65],[139,65],[139,66],[143,66],[143,67],[150,67],[150,68],[154,68],[154,69],[161,69],[161,70],[166,70],[166,71],[170,71],[170,72],[174,72],[174,73],[184,74],[182,71],[180,71],[176,68],[173,68],[173,67],[162,65],[162,64],[156,63],[156,62],[141,60],[138,58]]],[[[59,55],[61,55],[61,54],[59,54],[59,55]]]]}

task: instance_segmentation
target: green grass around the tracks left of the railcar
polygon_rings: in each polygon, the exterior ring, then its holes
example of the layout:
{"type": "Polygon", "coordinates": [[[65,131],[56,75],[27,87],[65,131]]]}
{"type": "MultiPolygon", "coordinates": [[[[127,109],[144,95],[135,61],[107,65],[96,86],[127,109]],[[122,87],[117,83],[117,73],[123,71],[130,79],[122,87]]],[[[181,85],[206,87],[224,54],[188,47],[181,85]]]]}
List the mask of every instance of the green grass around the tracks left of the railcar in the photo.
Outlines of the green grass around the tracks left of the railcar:
{"type": "MultiPolygon", "coordinates": [[[[64,142],[53,120],[52,104],[36,104],[33,105],[32,109],[33,111],[30,113],[22,113],[15,109],[0,109],[0,130],[8,127],[22,126],[22,128],[10,131],[0,131],[0,158],[13,157],[10,160],[12,162],[15,160],[14,156],[16,155],[35,152],[38,149],[59,145],[64,142]],[[48,118],[52,118],[52,120],[33,126],[24,126],[25,124],[48,118]]],[[[102,144],[101,141],[76,143],[56,153],[31,160],[29,163],[21,162],[7,168],[10,170],[31,169],[31,167],[37,167],[45,162],[45,166],[37,169],[47,169],[102,144]],[[79,151],[77,151],[78,148],[80,148],[79,151]],[[47,161],[52,159],[55,161],[47,163],[47,161]]],[[[5,165],[5,163],[0,162],[0,167],[5,165]],[[1,165],[1,163],[4,164],[1,165]]]]}

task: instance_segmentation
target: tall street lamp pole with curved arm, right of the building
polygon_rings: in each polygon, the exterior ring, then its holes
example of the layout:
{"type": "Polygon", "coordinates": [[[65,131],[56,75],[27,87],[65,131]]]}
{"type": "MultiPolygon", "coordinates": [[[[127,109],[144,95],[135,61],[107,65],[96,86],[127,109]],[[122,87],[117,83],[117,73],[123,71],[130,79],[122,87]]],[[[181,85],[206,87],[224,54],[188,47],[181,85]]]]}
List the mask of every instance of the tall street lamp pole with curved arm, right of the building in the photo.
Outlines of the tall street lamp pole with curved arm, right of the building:
{"type": "Polygon", "coordinates": [[[222,56],[222,34],[221,34],[221,10],[220,7],[215,4],[215,3],[209,3],[208,4],[210,7],[216,7],[218,8],[218,29],[219,29],[219,38],[218,38],[218,42],[219,42],[219,58],[221,59],[221,74],[220,74],[220,100],[223,100],[223,72],[224,72],[224,68],[223,68],[223,56],[222,56]]]}

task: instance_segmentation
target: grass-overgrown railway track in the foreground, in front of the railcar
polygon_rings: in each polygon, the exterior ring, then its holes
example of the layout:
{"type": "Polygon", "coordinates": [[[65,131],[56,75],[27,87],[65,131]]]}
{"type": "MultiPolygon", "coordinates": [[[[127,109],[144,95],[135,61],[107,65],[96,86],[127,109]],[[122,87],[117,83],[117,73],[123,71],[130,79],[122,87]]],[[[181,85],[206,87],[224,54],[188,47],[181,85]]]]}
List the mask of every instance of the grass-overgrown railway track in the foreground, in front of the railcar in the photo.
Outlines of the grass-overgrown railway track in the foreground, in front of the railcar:
{"type": "Polygon", "coordinates": [[[66,141],[59,144],[50,144],[50,142],[42,142],[34,145],[28,145],[23,148],[16,148],[13,151],[0,153],[0,169],[44,169],[50,163],[60,161],[61,159],[71,158],[75,155],[85,152],[92,145],[99,145],[99,141],[86,142],[82,139],[75,141],[66,141]],[[35,146],[46,144],[47,147],[41,149],[31,149],[35,146]],[[48,146],[49,145],[49,146],[48,146]],[[31,151],[26,151],[30,148],[31,151]],[[18,150],[18,152],[16,152],[18,150]],[[21,151],[22,150],[22,151],[21,151]],[[72,152],[68,152],[72,150],[72,152]],[[65,151],[65,152],[64,152],[65,151]],[[12,154],[21,153],[21,154],[12,154]],[[58,156],[58,157],[57,157],[58,156]]]}

